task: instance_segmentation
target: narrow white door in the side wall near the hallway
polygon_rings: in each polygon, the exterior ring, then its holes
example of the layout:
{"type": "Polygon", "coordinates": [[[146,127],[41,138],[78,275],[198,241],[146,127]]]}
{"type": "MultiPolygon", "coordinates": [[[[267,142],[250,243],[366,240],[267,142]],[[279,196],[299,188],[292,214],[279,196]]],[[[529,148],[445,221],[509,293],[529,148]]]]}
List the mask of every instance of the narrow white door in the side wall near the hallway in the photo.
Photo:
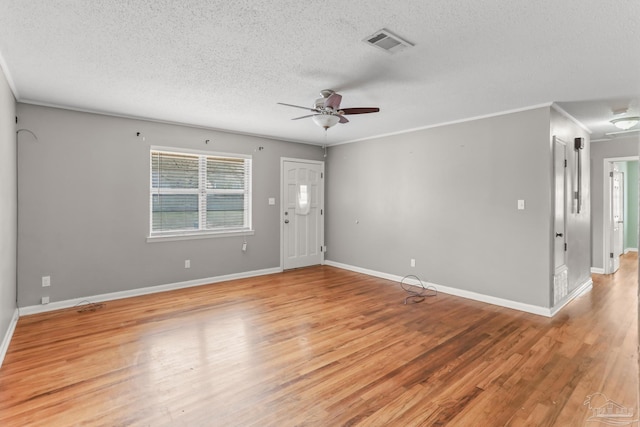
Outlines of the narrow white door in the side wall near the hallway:
{"type": "Polygon", "coordinates": [[[566,144],[554,137],[553,140],[553,162],[554,162],[554,285],[553,301],[554,305],[568,293],[568,270],[567,270],[567,157],[566,144]]]}

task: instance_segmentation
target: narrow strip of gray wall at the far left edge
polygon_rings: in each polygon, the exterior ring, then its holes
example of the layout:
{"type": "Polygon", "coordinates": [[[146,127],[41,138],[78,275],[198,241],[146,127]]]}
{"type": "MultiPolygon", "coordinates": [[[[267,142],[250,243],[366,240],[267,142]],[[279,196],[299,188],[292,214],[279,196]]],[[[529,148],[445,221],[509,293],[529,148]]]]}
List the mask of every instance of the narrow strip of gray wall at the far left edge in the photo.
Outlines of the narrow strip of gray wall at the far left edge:
{"type": "Polygon", "coordinates": [[[0,341],[16,309],[16,102],[0,69],[0,341]]]}

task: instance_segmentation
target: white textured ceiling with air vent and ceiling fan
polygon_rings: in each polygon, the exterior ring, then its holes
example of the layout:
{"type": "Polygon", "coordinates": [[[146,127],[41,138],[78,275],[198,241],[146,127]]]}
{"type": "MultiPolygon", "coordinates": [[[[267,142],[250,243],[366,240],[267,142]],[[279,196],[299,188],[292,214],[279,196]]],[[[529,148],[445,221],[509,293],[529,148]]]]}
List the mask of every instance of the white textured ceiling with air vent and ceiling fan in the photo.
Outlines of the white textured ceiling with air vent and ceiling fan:
{"type": "Polygon", "coordinates": [[[0,0],[16,98],[335,144],[557,102],[593,131],[640,115],[637,0],[0,0]],[[386,28],[396,54],[362,39],[386,28]],[[321,89],[352,115],[290,120],[321,89]]]}

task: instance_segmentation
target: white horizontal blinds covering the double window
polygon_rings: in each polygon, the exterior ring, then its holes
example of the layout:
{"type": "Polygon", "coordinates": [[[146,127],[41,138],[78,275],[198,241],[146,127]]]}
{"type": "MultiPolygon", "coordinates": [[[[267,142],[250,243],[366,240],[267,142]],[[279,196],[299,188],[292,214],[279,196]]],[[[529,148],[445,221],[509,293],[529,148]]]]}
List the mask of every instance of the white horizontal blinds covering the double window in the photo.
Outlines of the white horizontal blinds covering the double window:
{"type": "Polygon", "coordinates": [[[251,229],[251,158],[151,150],[151,236],[251,229]]]}

